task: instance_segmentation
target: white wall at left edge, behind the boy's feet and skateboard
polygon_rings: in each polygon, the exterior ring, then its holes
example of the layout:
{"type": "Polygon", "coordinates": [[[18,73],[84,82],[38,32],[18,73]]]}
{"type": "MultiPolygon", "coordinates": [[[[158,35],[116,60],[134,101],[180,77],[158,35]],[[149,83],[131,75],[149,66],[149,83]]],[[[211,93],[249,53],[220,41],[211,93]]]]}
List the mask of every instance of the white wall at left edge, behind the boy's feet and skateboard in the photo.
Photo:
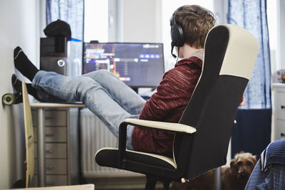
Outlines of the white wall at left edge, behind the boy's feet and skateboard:
{"type": "MultiPolygon", "coordinates": [[[[28,58],[38,65],[40,1],[0,1],[0,96],[11,93],[14,73],[13,51],[20,46],[28,58]]],[[[11,188],[21,177],[19,162],[23,159],[19,134],[23,132],[21,105],[0,105],[0,189],[11,188]]],[[[20,166],[21,165],[21,166],[20,166]]]]}

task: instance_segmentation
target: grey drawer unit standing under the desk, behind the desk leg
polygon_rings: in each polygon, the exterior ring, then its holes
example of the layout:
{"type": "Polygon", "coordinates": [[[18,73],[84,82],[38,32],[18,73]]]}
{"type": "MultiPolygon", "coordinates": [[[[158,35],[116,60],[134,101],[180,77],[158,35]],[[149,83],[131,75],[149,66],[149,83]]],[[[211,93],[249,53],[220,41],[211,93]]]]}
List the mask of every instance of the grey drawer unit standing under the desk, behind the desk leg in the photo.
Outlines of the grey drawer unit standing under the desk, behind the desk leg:
{"type": "MultiPolygon", "coordinates": [[[[38,117],[36,108],[32,109],[32,117],[36,157],[33,186],[38,186],[38,117]]],[[[76,137],[77,118],[78,109],[73,112],[70,112],[69,108],[45,109],[46,186],[78,184],[78,176],[73,176],[73,173],[78,172],[77,166],[74,165],[78,161],[73,159],[75,156],[71,156],[74,154],[73,149],[77,148],[72,144],[78,143],[78,139],[71,139],[76,137]]]]}

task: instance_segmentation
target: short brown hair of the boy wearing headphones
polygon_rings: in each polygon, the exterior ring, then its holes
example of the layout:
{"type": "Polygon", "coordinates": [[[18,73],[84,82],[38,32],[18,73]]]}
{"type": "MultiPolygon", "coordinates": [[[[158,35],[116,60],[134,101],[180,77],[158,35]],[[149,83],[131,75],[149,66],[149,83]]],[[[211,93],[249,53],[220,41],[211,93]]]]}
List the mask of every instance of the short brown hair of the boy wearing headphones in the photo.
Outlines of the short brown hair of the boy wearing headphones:
{"type": "Polygon", "coordinates": [[[170,19],[170,26],[180,24],[185,36],[185,43],[194,48],[204,48],[204,41],[216,22],[214,14],[199,5],[180,6],[170,19]],[[175,18],[174,18],[175,17],[175,18]]]}

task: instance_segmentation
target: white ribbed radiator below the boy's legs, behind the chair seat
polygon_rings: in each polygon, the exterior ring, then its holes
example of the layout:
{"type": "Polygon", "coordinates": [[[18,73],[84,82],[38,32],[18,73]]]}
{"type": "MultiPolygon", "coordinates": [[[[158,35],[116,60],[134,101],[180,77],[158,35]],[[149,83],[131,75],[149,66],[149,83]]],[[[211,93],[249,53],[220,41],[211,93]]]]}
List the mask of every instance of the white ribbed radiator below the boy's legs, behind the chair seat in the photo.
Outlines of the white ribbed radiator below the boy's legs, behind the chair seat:
{"type": "Polygon", "coordinates": [[[81,169],[83,177],[140,176],[130,171],[100,167],[95,162],[95,152],[103,147],[118,147],[117,138],[103,122],[87,108],[81,110],[81,169]]]}

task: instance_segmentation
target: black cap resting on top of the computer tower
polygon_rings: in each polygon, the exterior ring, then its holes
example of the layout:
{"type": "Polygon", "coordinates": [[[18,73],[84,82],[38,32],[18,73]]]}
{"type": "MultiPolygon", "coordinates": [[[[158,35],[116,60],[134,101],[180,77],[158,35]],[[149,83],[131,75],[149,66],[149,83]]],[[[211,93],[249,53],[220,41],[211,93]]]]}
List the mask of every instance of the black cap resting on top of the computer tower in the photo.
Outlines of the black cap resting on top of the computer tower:
{"type": "Polygon", "coordinates": [[[53,21],[44,28],[43,32],[48,37],[63,36],[71,38],[71,26],[65,21],[57,20],[53,21]]]}

